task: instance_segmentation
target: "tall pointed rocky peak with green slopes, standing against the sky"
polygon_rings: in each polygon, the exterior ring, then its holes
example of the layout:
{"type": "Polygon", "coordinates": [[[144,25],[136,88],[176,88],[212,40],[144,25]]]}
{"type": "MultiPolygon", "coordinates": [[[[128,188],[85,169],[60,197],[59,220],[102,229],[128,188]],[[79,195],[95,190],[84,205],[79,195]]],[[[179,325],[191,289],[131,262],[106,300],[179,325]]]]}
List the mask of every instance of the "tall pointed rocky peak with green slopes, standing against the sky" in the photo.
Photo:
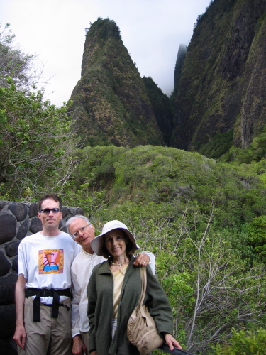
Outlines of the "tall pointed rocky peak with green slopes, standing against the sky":
{"type": "Polygon", "coordinates": [[[86,145],[164,145],[145,85],[114,21],[99,18],[89,28],[82,77],[71,99],[86,145]]]}

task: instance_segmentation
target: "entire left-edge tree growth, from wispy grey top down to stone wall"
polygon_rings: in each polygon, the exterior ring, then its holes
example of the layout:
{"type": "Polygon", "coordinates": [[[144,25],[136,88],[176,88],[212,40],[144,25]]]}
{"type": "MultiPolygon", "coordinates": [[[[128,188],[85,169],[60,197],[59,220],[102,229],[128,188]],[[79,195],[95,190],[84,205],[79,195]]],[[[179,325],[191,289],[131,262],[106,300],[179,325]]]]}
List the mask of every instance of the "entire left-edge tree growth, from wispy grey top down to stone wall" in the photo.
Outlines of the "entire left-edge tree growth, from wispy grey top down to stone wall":
{"type": "Polygon", "coordinates": [[[62,189],[78,140],[67,107],[56,108],[35,89],[33,57],[13,49],[8,28],[0,35],[0,191],[2,199],[28,201],[44,186],[62,189]]]}

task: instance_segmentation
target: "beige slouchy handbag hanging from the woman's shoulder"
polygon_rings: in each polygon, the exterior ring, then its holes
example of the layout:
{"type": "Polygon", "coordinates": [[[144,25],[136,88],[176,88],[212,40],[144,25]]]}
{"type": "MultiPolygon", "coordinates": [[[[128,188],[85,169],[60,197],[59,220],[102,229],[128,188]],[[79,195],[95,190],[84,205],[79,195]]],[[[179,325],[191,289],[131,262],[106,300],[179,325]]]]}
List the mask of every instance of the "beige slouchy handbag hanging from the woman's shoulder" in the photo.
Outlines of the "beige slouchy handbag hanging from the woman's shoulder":
{"type": "Polygon", "coordinates": [[[137,346],[140,355],[146,355],[164,343],[164,339],[157,332],[155,321],[150,315],[148,307],[143,305],[147,286],[147,272],[145,267],[140,268],[142,290],[137,307],[128,320],[128,339],[137,346]]]}

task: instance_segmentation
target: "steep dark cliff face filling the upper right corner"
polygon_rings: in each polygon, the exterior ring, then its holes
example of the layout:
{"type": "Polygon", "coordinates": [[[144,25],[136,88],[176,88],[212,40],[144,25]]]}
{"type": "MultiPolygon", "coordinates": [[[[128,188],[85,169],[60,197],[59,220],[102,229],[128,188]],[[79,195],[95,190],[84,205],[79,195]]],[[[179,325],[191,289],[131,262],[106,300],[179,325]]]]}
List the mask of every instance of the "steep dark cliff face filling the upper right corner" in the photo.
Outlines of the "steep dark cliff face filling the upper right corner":
{"type": "MultiPolygon", "coordinates": [[[[217,135],[233,130],[231,146],[246,148],[261,133],[266,124],[265,11],[264,0],[215,0],[198,16],[174,88],[171,146],[218,158],[204,148],[217,135]]],[[[220,150],[228,151],[228,143],[220,150]]]]}

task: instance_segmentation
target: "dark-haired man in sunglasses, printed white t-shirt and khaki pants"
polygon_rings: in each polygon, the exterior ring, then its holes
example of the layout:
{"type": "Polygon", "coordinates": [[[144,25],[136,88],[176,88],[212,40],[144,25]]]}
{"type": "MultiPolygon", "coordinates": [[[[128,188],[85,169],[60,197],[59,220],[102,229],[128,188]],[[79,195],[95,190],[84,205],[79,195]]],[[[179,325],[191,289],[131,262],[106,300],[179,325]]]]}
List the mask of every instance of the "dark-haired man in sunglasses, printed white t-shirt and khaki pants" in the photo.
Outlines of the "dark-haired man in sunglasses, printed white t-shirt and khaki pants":
{"type": "Polygon", "coordinates": [[[60,197],[44,195],[38,212],[43,229],[18,246],[18,354],[72,354],[70,268],[80,247],[60,231],[61,209],[60,197]]]}

